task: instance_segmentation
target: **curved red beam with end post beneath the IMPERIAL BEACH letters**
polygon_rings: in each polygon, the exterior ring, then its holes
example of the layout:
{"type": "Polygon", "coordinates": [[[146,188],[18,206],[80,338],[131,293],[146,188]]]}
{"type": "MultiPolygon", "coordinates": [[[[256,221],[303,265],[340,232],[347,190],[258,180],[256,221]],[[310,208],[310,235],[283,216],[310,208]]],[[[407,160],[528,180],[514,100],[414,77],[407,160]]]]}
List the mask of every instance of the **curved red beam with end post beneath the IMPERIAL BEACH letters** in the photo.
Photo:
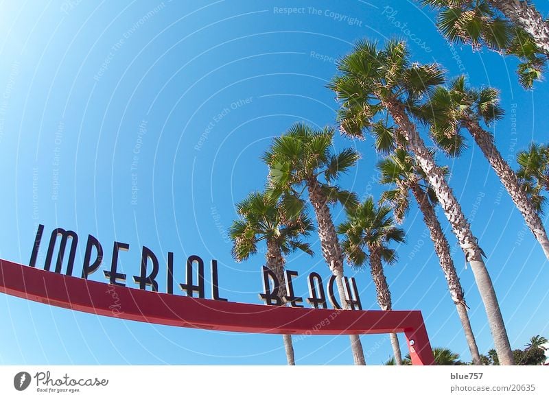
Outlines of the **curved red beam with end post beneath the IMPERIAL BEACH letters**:
{"type": "Polygon", "coordinates": [[[198,299],[108,285],[4,260],[0,260],[0,292],[167,326],[292,335],[404,333],[412,363],[433,363],[421,311],[338,311],[198,299]]]}

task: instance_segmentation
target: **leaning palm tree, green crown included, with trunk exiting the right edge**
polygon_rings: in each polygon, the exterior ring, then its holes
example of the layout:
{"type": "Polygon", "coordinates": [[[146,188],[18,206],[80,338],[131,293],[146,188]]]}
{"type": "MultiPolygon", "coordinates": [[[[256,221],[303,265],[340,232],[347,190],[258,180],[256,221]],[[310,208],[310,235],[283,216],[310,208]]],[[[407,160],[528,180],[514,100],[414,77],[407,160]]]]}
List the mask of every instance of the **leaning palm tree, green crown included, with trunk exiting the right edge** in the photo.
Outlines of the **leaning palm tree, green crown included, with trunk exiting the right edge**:
{"type": "Polygon", "coordinates": [[[451,156],[459,156],[464,147],[463,130],[473,136],[549,259],[549,239],[536,206],[530,202],[517,175],[495,147],[492,134],[480,125],[480,121],[489,125],[502,115],[497,90],[467,88],[465,77],[460,76],[451,82],[449,88],[434,88],[421,116],[429,123],[434,141],[451,156]]]}

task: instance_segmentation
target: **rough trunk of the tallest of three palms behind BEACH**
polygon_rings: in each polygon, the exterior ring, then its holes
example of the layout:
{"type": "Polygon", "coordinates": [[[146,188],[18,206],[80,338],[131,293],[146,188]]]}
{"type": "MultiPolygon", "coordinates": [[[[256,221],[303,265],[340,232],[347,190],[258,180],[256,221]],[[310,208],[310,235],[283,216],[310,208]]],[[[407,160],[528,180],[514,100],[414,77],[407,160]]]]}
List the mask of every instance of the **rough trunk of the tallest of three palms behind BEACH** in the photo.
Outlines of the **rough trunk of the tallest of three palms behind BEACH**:
{"type": "MultiPolygon", "coordinates": [[[[307,180],[307,189],[316,215],[316,222],[318,223],[318,237],[320,237],[322,254],[330,267],[331,274],[336,276],[341,307],[349,309],[343,288],[343,255],[339,246],[336,227],[334,226],[334,221],[331,219],[330,210],[327,205],[327,198],[320,189],[316,178],[307,180]]],[[[366,365],[360,337],[358,335],[349,335],[349,338],[351,339],[351,350],[353,351],[355,365],[366,365]]]]}

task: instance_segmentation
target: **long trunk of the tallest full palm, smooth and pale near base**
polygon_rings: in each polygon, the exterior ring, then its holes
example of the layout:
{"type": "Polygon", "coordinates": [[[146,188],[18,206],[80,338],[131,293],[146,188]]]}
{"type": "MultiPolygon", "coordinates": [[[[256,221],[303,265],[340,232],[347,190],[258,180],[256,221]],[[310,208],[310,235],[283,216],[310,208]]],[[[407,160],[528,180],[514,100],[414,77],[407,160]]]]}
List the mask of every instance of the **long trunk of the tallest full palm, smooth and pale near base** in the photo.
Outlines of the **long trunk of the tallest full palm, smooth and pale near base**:
{"type": "Polygon", "coordinates": [[[470,263],[478,291],[486,309],[489,326],[494,340],[495,350],[498,352],[500,364],[513,365],[513,353],[509,344],[509,337],[503,322],[498,298],[493,289],[493,283],[482,260],[482,250],[478,246],[478,239],[474,237],[469,222],[461,210],[461,206],[454,196],[452,189],[446,182],[441,169],[436,166],[432,154],[429,152],[421,136],[404,110],[404,105],[397,101],[386,101],[384,106],[390,112],[393,120],[399,125],[401,133],[406,139],[410,151],[414,154],[419,166],[425,172],[429,184],[432,186],[441,207],[454,230],[461,249],[465,253],[465,260],[470,263]]]}

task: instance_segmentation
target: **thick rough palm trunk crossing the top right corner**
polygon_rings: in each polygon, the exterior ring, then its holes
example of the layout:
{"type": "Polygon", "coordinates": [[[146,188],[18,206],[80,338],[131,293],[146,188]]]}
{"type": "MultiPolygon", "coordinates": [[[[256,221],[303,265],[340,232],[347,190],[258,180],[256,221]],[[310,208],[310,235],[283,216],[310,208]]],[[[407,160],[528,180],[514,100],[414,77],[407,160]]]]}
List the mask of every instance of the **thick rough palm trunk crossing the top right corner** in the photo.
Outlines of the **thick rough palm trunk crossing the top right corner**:
{"type": "Polygon", "coordinates": [[[491,0],[490,2],[509,21],[522,27],[530,34],[541,51],[549,54],[549,24],[539,14],[534,5],[519,0],[491,0]]]}

